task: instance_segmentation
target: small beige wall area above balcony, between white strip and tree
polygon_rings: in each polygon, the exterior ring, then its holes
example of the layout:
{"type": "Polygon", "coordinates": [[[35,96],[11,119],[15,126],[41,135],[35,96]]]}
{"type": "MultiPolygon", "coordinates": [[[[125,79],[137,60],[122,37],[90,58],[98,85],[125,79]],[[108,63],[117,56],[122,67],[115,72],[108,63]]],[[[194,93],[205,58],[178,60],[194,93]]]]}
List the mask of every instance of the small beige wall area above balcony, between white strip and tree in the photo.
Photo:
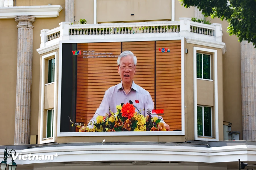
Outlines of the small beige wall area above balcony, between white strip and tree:
{"type": "Polygon", "coordinates": [[[175,0],[175,21],[182,17],[194,18],[195,7],[185,8],[180,4],[179,0],[175,0]]]}

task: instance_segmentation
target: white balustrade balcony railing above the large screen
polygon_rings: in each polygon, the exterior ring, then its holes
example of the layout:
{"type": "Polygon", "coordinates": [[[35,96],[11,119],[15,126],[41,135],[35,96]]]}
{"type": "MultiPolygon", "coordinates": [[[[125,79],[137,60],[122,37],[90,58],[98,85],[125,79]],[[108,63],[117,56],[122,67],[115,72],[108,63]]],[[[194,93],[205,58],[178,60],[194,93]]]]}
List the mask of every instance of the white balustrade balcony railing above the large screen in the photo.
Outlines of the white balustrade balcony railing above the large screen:
{"type": "MultiPolygon", "coordinates": [[[[202,24],[192,22],[190,18],[180,21],[158,21],[137,23],[84,24],[71,25],[60,23],[52,30],[41,30],[41,48],[60,40],[98,39],[100,36],[127,34],[166,34],[166,36],[184,36],[222,42],[221,24],[202,24]],[[73,38],[72,38],[73,37],[73,38]],[[78,38],[79,37],[79,38],[78,38]]],[[[143,36],[144,37],[144,36],[143,36]]],[[[111,37],[108,37],[111,38],[111,37]]],[[[116,38],[116,37],[115,37],[116,38]]]]}

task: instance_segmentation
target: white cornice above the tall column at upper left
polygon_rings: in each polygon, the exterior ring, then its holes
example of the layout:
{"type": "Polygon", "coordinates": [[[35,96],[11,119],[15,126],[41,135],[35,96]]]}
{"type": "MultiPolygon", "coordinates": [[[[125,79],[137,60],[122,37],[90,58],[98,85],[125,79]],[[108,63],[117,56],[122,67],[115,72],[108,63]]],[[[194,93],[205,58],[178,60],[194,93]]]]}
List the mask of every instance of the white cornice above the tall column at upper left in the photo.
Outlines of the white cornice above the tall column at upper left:
{"type": "Polygon", "coordinates": [[[14,18],[19,15],[52,18],[58,17],[61,10],[62,7],[60,5],[0,7],[0,19],[14,18]]]}

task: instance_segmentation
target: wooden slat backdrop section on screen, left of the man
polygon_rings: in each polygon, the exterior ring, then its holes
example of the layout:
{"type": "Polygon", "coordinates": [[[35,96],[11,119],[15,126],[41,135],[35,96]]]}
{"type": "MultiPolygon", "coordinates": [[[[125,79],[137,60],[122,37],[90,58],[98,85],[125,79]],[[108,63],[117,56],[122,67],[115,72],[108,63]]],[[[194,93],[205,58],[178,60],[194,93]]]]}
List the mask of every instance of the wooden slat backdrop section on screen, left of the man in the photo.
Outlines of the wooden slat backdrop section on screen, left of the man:
{"type": "Polygon", "coordinates": [[[120,83],[121,78],[117,70],[117,57],[83,58],[83,51],[120,55],[121,42],[78,43],[77,49],[81,50],[81,55],[77,55],[76,122],[83,120],[88,123],[100,106],[105,91],[120,83]]]}

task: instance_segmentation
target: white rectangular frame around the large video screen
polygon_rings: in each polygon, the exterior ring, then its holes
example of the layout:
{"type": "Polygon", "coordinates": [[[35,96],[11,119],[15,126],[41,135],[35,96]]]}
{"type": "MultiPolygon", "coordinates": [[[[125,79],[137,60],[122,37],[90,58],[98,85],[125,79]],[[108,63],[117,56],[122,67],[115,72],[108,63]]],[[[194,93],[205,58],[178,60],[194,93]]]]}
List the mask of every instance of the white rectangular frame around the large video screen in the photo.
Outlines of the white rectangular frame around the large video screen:
{"type": "Polygon", "coordinates": [[[60,41],[58,67],[58,108],[57,108],[57,137],[86,137],[86,136],[184,136],[185,135],[185,38],[184,37],[152,37],[152,38],[124,38],[101,40],[65,40],[60,41]],[[129,41],[166,41],[181,40],[181,131],[140,131],[140,132],[60,132],[61,111],[61,78],[62,78],[62,44],[64,43],[96,43],[96,42],[129,42],[129,41]]]}

